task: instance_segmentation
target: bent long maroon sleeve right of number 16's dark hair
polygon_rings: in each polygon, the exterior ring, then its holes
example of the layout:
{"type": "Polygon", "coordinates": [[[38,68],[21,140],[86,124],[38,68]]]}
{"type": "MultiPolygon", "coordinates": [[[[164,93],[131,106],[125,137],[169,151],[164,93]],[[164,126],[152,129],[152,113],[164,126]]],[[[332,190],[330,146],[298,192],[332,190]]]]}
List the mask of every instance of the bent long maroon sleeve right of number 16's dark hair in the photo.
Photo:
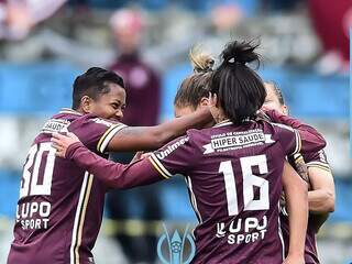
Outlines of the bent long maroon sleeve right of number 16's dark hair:
{"type": "Polygon", "coordinates": [[[265,110],[265,113],[272,122],[286,124],[299,132],[302,153],[318,152],[327,145],[323,136],[309,124],[302,123],[298,119],[282,114],[275,110],[265,110]]]}

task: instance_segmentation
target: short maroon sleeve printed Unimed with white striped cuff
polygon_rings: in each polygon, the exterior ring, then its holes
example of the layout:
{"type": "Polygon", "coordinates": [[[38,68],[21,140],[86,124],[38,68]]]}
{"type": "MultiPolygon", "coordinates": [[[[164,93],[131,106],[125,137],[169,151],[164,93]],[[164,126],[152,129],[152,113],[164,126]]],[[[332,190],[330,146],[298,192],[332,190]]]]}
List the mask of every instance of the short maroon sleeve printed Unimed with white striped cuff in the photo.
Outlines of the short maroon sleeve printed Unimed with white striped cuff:
{"type": "Polygon", "coordinates": [[[148,157],[155,169],[165,178],[175,174],[187,174],[197,163],[196,150],[190,138],[178,138],[148,157]]]}

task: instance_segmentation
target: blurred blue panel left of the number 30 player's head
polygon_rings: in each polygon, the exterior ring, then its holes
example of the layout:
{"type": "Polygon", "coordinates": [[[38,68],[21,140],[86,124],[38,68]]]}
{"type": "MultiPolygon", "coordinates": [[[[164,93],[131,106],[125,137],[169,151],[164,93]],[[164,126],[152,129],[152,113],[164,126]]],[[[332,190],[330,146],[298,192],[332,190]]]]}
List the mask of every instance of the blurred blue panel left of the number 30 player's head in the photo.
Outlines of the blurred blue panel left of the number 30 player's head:
{"type": "Polygon", "coordinates": [[[72,103],[72,86],[82,70],[67,63],[0,65],[0,113],[47,114],[72,103]]]}

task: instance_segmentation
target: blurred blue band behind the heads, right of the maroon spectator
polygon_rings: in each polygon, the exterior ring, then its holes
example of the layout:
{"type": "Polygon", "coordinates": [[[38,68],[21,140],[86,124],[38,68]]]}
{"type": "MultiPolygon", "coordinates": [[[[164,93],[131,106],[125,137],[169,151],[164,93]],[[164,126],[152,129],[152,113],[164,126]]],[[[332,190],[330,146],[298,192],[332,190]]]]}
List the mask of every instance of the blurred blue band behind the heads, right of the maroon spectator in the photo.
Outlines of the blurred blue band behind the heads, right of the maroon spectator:
{"type": "MultiPolygon", "coordinates": [[[[188,65],[168,70],[164,82],[163,114],[173,116],[173,100],[179,81],[191,73],[188,65]]],[[[312,69],[265,67],[264,80],[282,88],[286,103],[295,117],[320,119],[349,118],[349,76],[320,76],[312,69]]]]}

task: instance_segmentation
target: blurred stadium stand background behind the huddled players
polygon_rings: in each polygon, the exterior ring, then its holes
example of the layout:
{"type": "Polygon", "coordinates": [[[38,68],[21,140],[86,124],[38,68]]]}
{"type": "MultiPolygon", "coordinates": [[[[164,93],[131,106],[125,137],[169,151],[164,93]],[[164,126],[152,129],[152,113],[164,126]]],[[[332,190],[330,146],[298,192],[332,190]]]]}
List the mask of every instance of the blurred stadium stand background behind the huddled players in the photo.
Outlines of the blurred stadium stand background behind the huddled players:
{"type": "MultiPolygon", "coordinates": [[[[46,118],[70,107],[78,74],[119,72],[128,82],[125,123],[153,124],[173,118],[176,89],[191,72],[189,48],[217,55],[231,37],[261,40],[263,79],[279,85],[292,116],[326,136],[337,205],[318,248],[321,263],[351,263],[351,0],[0,0],[0,263],[29,146],[46,118]]],[[[152,262],[163,222],[180,232],[196,223],[180,177],[118,196],[108,199],[97,263],[152,262]]]]}

